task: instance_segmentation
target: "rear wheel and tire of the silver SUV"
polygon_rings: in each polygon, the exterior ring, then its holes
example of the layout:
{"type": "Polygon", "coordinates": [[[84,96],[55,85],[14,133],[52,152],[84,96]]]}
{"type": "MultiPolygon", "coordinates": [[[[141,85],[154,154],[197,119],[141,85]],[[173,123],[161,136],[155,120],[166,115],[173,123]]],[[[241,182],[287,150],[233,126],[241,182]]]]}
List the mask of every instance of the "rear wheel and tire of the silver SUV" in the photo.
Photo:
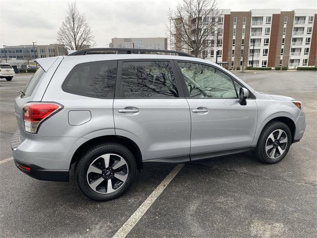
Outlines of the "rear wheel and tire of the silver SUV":
{"type": "Polygon", "coordinates": [[[136,171],[135,158],[126,147],[117,143],[103,143],[90,148],[80,158],[75,178],[84,195],[96,201],[106,201],[127,191],[135,179],[136,171]]]}

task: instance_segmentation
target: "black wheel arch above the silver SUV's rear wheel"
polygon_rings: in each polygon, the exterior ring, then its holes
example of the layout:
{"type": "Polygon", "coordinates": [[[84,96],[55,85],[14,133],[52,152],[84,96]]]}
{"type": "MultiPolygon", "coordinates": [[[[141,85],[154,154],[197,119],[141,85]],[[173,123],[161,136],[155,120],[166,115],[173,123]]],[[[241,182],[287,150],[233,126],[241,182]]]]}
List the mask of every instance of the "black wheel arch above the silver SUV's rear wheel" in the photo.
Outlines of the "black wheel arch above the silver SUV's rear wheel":
{"type": "Polygon", "coordinates": [[[96,144],[105,143],[105,142],[116,142],[127,147],[131,151],[131,153],[134,155],[134,158],[136,159],[137,169],[140,170],[143,168],[142,154],[141,154],[141,150],[139,146],[133,140],[124,136],[119,136],[119,135],[99,136],[99,137],[95,137],[86,141],[85,143],[80,145],[75,151],[75,153],[73,154],[71,162],[70,162],[70,167],[74,163],[76,163],[79,160],[80,155],[83,154],[85,151],[87,151],[89,148],[95,146],[96,144]]]}

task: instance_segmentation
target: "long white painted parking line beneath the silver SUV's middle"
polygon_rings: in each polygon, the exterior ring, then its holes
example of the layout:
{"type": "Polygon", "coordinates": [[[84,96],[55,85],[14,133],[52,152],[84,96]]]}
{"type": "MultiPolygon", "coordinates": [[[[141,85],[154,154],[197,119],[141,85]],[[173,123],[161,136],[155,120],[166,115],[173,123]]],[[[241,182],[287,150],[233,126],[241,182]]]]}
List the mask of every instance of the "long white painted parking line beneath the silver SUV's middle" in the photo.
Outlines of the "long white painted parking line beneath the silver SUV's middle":
{"type": "Polygon", "coordinates": [[[167,176],[161,181],[159,186],[151,193],[150,196],[141,204],[141,206],[132,214],[132,216],[123,224],[123,226],[114,234],[112,238],[125,238],[132,228],[138,223],[143,217],[146,211],[151,205],[157,200],[159,195],[164,191],[165,187],[170,183],[172,179],[178,174],[183,168],[184,164],[177,165],[167,176]]]}

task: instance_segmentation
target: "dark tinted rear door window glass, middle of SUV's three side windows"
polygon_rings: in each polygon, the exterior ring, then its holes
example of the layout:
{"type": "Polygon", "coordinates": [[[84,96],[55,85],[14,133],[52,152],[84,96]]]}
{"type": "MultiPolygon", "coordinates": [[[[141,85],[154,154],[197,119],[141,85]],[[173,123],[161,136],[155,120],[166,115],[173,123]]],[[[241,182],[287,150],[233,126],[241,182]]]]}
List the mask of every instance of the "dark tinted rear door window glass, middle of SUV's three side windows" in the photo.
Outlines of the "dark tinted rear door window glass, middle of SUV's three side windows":
{"type": "Polygon", "coordinates": [[[168,61],[123,62],[122,87],[126,98],[178,97],[174,73],[168,61]]]}

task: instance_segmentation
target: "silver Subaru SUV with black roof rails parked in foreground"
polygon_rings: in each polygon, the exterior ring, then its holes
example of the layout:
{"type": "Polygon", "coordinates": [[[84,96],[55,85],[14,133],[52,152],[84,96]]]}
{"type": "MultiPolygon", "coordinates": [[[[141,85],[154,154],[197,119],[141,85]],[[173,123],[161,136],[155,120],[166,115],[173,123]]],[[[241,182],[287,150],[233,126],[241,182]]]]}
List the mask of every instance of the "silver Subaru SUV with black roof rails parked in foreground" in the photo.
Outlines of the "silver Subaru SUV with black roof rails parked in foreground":
{"type": "Polygon", "coordinates": [[[81,192],[108,200],[146,166],[246,151],[273,164],[303,137],[301,102],[257,92],[207,60],[148,53],[88,49],[38,59],[15,99],[16,166],[68,181],[74,165],[81,192]]]}

